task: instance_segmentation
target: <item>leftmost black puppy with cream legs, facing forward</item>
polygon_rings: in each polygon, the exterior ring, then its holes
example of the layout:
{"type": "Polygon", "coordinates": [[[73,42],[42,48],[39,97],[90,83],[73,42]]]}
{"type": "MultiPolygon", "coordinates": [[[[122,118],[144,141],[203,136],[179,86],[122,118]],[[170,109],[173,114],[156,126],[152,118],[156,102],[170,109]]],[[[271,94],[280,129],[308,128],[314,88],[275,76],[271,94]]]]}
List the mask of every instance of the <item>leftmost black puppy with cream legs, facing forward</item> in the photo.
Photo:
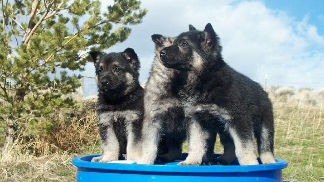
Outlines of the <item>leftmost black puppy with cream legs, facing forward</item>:
{"type": "Polygon", "coordinates": [[[97,113],[102,155],[93,162],[137,161],[141,155],[144,89],[138,81],[140,62],[135,51],[91,51],[98,86],[97,113]]]}

